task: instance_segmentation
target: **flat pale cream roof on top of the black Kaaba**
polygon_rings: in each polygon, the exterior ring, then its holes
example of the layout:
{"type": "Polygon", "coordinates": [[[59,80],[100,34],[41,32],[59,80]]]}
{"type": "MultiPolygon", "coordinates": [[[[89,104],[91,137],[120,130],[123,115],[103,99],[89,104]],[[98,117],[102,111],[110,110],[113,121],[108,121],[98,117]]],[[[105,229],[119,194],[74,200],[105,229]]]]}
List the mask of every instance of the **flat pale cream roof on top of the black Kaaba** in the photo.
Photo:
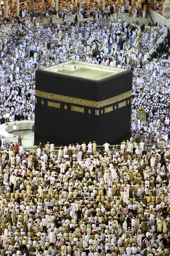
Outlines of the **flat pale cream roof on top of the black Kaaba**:
{"type": "Polygon", "coordinates": [[[123,75],[123,73],[130,71],[127,69],[114,68],[112,66],[97,65],[93,63],[70,60],[62,62],[47,68],[41,69],[44,72],[54,72],[66,76],[79,77],[81,79],[90,79],[100,81],[108,79],[110,76],[123,75]]]}

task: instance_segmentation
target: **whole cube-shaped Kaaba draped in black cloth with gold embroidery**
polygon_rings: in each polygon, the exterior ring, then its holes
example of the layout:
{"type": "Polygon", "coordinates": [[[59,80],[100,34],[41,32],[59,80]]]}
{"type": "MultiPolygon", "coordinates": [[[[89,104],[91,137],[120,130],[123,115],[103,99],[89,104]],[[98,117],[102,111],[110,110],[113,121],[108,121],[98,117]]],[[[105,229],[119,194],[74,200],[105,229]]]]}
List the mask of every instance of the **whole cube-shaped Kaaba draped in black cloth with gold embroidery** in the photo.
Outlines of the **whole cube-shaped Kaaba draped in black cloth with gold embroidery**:
{"type": "Polygon", "coordinates": [[[130,138],[132,71],[67,61],[36,71],[34,143],[130,138]]]}

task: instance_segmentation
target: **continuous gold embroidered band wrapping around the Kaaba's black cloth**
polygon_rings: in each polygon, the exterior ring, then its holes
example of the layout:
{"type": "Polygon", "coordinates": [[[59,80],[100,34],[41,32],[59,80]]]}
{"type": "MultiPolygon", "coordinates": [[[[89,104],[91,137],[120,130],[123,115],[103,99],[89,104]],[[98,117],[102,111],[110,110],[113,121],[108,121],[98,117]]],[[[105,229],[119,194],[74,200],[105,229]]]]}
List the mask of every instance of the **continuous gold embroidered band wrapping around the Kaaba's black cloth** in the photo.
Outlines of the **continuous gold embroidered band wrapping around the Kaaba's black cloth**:
{"type": "Polygon", "coordinates": [[[39,90],[35,90],[35,95],[41,98],[53,99],[55,101],[71,103],[71,104],[73,103],[81,106],[96,107],[96,108],[105,107],[110,104],[122,101],[123,99],[129,98],[131,94],[132,94],[132,91],[130,90],[129,92],[117,95],[112,98],[105,99],[104,101],[94,102],[94,101],[88,101],[87,99],[74,98],[74,97],[69,97],[69,96],[64,96],[64,95],[59,95],[54,93],[46,93],[39,90]]]}

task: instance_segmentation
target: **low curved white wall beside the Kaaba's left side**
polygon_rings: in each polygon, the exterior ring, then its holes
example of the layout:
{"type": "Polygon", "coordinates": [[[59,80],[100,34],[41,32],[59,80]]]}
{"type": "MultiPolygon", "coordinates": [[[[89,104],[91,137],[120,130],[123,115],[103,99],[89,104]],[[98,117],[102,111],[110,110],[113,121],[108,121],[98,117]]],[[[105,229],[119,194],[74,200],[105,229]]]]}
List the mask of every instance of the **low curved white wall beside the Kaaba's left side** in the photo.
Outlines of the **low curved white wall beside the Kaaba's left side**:
{"type": "MultiPolygon", "coordinates": [[[[16,138],[13,137],[13,134],[9,132],[13,132],[13,125],[16,123],[17,125],[17,131],[22,130],[32,130],[32,125],[34,124],[34,121],[16,121],[16,122],[10,122],[7,126],[6,123],[3,125],[0,125],[0,138],[4,137],[6,142],[15,142],[18,143],[18,136],[16,138]]],[[[22,146],[23,147],[32,147],[34,144],[33,140],[22,140],[22,146]]]]}

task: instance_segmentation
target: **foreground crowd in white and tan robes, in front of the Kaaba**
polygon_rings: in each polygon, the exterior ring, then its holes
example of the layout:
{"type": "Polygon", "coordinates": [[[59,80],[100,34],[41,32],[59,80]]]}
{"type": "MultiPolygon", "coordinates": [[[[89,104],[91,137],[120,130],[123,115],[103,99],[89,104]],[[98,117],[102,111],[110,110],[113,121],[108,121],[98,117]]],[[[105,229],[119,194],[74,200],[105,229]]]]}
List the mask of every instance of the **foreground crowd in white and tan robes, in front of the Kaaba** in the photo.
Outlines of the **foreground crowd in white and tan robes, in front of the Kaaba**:
{"type": "Polygon", "coordinates": [[[170,150],[103,146],[1,152],[0,255],[169,255],[170,150]]]}

